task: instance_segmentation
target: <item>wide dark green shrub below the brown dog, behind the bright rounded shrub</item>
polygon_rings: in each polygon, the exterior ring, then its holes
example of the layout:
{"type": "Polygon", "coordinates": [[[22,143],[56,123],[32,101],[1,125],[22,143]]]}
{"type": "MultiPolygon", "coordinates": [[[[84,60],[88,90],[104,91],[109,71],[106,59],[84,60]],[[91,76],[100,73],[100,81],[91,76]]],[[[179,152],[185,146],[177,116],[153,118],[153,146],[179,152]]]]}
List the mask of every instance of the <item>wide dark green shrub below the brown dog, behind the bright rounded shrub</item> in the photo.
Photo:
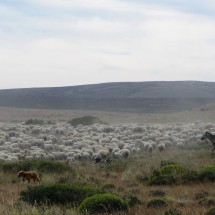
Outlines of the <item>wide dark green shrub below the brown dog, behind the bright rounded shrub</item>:
{"type": "Polygon", "coordinates": [[[22,201],[31,204],[80,204],[85,198],[101,193],[100,190],[90,186],[75,186],[69,184],[54,184],[28,187],[20,193],[22,201]]]}

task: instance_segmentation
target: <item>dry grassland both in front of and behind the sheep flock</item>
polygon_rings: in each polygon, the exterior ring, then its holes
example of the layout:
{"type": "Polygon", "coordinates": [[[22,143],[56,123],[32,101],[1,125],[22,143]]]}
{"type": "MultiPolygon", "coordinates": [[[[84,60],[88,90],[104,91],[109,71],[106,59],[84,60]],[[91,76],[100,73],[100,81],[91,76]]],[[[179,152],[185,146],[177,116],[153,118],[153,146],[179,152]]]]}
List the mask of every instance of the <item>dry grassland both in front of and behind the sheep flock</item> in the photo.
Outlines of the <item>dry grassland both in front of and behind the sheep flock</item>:
{"type": "MultiPolygon", "coordinates": [[[[34,110],[0,108],[0,121],[20,122],[29,118],[38,118],[53,121],[66,121],[77,116],[93,115],[108,123],[166,123],[166,122],[215,122],[215,111],[190,110],[169,114],[131,114],[131,113],[104,113],[97,111],[72,111],[72,110],[34,110]]],[[[108,187],[108,192],[120,196],[137,197],[141,204],[135,204],[130,208],[128,215],[163,215],[169,209],[177,209],[184,215],[203,215],[213,204],[199,204],[197,197],[201,193],[207,193],[207,197],[215,202],[215,182],[201,181],[187,184],[173,185],[147,185],[141,178],[150,176],[160,167],[161,161],[171,161],[185,165],[192,169],[202,166],[214,165],[215,156],[211,154],[211,148],[207,145],[192,143],[184,149],[172,147],[163,152],[153,151],[152,155],[140,151],[128,159],[116,160],[111,166],[106,164],[95,165],[94,161],[77,161],[70,166],[70,170],[62,173],[42,172],[41,184],[54,184],[59,181],[68,183],[89,183],[95,187],[108,187]],[[116,163],[118,163],[116,165],[116,163]],[[75,174],[73,174],[75,172],[75,174]],[[149,208],[147,203],[156,198],[153,193],[162,191],[165,193],[166,207],[149,208]]],[[[27,182],[17,179],[15,172],[4,172],[3,163],[0,165],[0,214],[4,215],[77,215],[70,205],[42,205],[32,206],[19,201],[20,192],[28,188],[27,182]]],[[[68,165],[64,163],[64,165],[68,165]]],[[[37,186],[37,185],[30,185],[37,186]]],[[[214,205],[215,206],[215,205],[214,205]]]]}

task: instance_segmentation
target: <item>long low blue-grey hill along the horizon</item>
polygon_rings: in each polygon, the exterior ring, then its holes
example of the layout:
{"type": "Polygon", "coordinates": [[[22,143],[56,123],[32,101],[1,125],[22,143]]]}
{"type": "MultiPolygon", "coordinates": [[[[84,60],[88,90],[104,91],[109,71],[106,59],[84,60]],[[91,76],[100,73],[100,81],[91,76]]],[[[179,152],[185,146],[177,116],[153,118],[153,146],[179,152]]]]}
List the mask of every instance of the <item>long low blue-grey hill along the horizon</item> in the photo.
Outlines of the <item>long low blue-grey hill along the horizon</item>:
{"type": "Polygon", "coordinates": [[[215,102],[215,83],[122,82],[0,90],[0,106],[115,112],[175,112],[215,102]]]}

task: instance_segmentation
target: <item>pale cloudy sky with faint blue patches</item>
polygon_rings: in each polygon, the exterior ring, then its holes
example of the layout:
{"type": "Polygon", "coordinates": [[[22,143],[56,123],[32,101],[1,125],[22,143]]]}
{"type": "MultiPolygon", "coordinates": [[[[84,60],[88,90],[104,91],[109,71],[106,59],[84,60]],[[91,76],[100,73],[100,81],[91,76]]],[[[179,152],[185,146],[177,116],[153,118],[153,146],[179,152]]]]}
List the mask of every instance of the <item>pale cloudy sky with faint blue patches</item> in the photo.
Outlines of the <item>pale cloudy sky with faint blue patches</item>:
{"type": "Polygon", "coordinates": [[[215,81],[214,0],[0,0],[0,89],[215,81]]]}

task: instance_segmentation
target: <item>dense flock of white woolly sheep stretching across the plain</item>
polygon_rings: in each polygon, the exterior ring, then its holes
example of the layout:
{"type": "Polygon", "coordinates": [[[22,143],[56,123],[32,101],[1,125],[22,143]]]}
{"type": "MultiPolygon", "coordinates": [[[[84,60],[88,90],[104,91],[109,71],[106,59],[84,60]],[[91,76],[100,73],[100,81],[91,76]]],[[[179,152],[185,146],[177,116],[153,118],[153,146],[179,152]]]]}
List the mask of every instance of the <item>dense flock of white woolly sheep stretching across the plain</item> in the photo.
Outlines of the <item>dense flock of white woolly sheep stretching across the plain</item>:
{"type": "Polygon", "coordinates": [[[0,124],[0,161],[76,160],[127,158],[140,150],[153,153],[171,146],[199,142],[212,123],[94,124],[73,127],[68,123],[0,124]]]}

